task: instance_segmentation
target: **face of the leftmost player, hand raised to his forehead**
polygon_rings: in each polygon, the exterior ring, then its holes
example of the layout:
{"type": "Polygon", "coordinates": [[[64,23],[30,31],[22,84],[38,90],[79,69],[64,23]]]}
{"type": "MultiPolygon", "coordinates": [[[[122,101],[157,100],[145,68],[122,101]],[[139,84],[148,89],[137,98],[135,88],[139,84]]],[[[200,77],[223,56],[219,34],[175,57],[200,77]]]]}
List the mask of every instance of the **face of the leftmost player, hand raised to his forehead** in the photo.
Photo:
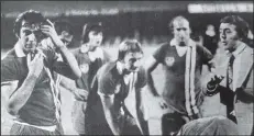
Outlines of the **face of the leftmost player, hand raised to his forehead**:
{"type": "Polygon", "coordinates": [[[34,52],[37,47],[38,35],[42,32],[40,31],[40,24],[31,24],[26,21],[22,21],[22,26],[20,29],[19,41],[22,45],[22,48],[26,53],[34,52]]]}

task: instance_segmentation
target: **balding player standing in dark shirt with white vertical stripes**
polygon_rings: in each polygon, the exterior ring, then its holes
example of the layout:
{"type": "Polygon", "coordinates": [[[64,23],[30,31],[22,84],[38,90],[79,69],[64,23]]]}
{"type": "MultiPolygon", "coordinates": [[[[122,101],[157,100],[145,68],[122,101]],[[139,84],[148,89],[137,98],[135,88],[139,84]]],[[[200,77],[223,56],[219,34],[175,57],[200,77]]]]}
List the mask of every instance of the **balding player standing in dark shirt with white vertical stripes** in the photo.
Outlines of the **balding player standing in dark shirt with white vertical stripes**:
{"type": "MultiPolygon", "coordinates": [[[[163,134],[168,134],[167,114],[174,113],[189,120],[201,117],[199,110],[202,103],[201,68],[210,65],[211,53],[190,38],[189,21],[184,16],[176,16],[169,23],[174,38],[161,45],[147,59],[147,84],[155,97],[161,97],[156,91],[152,72],[163,65],[165,86],[161,102],[167,113],[162,117],[163,134]]],[[[184,123],[183,123],[184,125],[184,123]]]]}

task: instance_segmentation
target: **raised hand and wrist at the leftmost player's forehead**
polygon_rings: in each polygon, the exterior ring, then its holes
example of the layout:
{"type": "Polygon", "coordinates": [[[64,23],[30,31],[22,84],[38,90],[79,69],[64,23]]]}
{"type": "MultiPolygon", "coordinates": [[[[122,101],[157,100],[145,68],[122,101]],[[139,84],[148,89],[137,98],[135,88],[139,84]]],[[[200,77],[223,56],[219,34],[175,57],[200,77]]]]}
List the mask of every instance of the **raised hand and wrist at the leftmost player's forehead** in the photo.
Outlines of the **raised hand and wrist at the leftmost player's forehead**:
{"type": "Polygon", "coordinates": [[[52,38],[52,42],[56,47],[59,48],[65,46],[65,44],[60,41],[58,34],[56,33],[54,24],[49,20],[47,20],[47,22],[49,25],[42,25],[42,32],[52,38]]]}

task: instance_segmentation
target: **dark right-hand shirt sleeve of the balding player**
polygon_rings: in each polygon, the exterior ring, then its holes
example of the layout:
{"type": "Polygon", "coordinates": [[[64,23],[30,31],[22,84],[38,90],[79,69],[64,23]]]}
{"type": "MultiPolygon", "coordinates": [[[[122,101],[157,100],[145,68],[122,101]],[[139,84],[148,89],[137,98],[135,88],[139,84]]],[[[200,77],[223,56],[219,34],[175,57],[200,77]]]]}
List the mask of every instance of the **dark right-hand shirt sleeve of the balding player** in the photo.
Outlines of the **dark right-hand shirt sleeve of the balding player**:
{"type": "Polygon", "coordinates": [[[203,46],[197,45],[197,52],[200,54],[203,64],[208,64],[213,58],[211,52],[203,46]]]}

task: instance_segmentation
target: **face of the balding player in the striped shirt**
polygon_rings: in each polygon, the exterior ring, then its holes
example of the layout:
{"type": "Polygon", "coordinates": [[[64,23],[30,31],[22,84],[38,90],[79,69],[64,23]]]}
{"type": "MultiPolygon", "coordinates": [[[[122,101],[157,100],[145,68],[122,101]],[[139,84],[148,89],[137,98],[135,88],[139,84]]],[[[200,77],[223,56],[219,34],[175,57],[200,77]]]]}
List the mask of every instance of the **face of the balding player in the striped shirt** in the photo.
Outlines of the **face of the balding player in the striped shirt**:
{"type": "Polygon", "coordinates": [[[174,37],[178,43],[187,43],[190,36],[189,22],[187,20],[176,20],[173,22],[174,25],[174,37]]]}

